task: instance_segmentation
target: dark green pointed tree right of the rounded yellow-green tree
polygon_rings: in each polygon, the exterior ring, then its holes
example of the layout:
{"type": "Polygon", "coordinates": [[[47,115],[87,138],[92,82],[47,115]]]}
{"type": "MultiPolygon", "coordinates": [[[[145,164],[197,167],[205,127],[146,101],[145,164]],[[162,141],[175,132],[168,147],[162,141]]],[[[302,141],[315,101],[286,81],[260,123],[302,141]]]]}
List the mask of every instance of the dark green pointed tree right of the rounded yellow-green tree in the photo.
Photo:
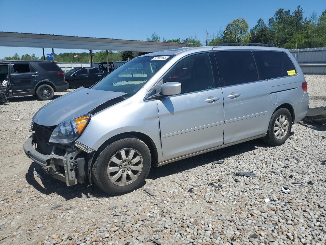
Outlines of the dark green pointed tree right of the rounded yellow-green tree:
{"type": "Polygon", "coordinates": [[[262,19],[257,21],[257,25],[250,30],[251,39],[253,43],[272,43],[273,32],[266,26],[262,19]]]}

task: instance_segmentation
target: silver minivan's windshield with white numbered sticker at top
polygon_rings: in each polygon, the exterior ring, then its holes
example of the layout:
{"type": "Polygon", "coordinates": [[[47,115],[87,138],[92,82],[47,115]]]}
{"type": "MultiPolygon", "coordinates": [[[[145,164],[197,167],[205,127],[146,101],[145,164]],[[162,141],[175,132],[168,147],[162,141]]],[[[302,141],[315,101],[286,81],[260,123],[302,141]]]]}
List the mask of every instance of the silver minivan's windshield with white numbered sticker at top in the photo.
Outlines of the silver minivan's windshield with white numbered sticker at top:
{"type": "Polygon", "coordinates": [[[92,89],[136,93],[172,56],[134,58],[113,70],[92,89]]]}

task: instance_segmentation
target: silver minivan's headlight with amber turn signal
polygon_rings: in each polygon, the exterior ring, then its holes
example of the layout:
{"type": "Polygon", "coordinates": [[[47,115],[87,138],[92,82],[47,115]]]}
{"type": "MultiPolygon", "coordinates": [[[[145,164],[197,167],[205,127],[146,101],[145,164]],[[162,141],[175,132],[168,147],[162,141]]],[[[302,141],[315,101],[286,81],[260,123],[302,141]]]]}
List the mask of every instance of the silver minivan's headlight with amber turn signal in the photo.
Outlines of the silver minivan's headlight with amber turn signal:
{"type": "Polygon", "coordinates": [[[69,145],[71,142],[77,139],[78,136],[81,135],[90,119],[91,115],[86,114],[74,119],[70,119],[64,123],[60,123],[53,130],[49,142],[69,145]]]}

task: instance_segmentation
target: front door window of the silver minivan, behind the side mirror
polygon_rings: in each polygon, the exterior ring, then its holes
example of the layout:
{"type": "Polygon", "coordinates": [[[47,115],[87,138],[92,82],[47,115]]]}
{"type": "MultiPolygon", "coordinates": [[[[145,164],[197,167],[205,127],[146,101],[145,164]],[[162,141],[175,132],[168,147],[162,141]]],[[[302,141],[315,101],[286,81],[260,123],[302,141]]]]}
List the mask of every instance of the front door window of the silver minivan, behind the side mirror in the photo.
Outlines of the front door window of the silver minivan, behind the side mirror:
{"type": "Polygon", "coordinates": [[[208,53],[180,60],[163,78],[163,83],[181,83],[181,93],[214,88],[211,60],[208,53]]]}

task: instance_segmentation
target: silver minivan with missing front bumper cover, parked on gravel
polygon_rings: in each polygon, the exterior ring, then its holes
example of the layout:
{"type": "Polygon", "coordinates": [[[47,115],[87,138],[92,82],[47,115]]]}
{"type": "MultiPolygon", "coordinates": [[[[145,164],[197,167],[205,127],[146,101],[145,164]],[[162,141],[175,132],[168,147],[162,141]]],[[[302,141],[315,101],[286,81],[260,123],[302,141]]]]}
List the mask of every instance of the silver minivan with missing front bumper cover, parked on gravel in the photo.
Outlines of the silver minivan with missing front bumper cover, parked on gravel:
{"type": "Polygon", "coordinates": [[[67,186],[119,195],[151,167],[251,139],[282,145],[306,90],[293,56],[270,44],[150,53],[39,109],[24,151],[67,186]]]}

